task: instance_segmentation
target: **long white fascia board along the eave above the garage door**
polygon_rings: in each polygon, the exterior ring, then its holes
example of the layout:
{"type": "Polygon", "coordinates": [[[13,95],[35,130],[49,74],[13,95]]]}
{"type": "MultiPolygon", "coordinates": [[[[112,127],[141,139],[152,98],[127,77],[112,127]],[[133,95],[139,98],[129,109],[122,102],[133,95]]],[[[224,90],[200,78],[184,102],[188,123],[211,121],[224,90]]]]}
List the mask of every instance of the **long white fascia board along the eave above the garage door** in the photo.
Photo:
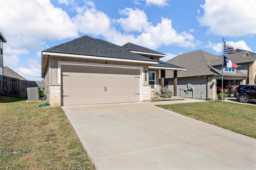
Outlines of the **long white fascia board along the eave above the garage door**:
{"type": "Polygon", "coordinates": [[[76,55],[76,54],[64,54],[64,53],[50,53],[50,52],[42,52],[42,55],[55,55],[62,57],[77,57],[84,59],[96,59],[96,60],[108,60],[108,61],[121,61],[121,62],[132,62],[132,63],[147,63],[147,64],[158,64],[157,61],[141,61],[141,60],[132,60],[132,59],[118,59],[118,58],[110,58],[110,57],[97,57],[90,55],[76,55]]]}

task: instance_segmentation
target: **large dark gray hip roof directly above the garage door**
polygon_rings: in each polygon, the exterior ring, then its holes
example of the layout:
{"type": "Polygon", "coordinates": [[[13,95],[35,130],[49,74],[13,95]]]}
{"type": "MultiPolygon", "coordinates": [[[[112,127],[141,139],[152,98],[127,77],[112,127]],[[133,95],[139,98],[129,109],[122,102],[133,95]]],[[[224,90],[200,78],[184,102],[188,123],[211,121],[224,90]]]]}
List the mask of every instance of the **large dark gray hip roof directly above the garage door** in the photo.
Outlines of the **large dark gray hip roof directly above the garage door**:
{"type": "Polygon", "coordinates": [[[109,43],[101,39],[94,39],[86,35],[72,41],[57,45],[55,47],[46,49],[42,52],[156,62],[155,60],[127,51],[118,45],[109,43]]]}

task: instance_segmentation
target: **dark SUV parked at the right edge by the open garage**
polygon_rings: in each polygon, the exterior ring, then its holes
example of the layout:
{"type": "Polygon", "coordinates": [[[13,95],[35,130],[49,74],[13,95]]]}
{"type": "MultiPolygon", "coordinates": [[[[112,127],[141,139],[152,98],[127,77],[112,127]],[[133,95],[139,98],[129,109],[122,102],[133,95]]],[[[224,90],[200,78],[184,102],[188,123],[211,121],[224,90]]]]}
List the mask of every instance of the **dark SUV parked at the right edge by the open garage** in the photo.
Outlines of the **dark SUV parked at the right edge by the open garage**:
{"type": "Polygon", "coordinates": [[[234,97],[242,103],[256,102],[256,85],[239,85],[234,97]]]}

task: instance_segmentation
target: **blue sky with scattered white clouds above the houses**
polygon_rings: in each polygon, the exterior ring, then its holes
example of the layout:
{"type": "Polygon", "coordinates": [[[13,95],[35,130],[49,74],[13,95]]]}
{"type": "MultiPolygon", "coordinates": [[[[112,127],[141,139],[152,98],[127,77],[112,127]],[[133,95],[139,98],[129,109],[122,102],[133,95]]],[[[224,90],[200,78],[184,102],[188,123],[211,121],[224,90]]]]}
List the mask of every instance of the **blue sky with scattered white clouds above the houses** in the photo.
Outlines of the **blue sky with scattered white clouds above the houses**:
{"type": "Polygon", "coordinates": [[[255,0],[0,0],[4,66],[42,80],[41,51],[83,35],[128,42],[167,61],[202,49],[222,55],[222,37],[256,52],[255,0]]]}

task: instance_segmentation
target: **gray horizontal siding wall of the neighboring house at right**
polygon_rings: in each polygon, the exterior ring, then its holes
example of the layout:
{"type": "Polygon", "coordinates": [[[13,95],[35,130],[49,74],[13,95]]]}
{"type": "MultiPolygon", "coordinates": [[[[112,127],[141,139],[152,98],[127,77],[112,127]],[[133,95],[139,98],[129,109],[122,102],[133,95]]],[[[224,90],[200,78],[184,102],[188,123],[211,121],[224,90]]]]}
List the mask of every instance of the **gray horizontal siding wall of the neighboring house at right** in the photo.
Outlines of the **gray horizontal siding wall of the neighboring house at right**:
{"type": "MultiPolygon", "coordinates": [[[[178,78],[177,81],[177,96],[184,98],[206,98],[206,83],[207,78],[205,77],[196,77],[196,78],[178,78]],[[191,84],[193,91],[184,92],[188,84],[191,84]]],[[[173,80],[169,80],[168,89],[174,90],[173,80]]]]}

